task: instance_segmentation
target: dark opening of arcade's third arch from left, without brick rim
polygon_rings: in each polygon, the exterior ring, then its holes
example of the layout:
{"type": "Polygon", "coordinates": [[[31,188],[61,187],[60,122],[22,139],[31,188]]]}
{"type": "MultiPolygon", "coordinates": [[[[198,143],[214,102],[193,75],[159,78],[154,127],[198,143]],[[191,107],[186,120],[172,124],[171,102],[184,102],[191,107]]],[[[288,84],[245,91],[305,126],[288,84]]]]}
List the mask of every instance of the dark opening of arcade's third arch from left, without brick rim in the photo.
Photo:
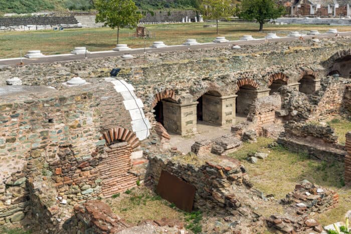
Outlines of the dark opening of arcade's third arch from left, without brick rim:
{"type": "Polygon", "coordinates": [[[237,92],[237,98],[235,102],[236,120],[246,120],[249,114],[249,109],[253,101],[257,98],[257,87],[252,85],[243,85],[237,92]]]}

